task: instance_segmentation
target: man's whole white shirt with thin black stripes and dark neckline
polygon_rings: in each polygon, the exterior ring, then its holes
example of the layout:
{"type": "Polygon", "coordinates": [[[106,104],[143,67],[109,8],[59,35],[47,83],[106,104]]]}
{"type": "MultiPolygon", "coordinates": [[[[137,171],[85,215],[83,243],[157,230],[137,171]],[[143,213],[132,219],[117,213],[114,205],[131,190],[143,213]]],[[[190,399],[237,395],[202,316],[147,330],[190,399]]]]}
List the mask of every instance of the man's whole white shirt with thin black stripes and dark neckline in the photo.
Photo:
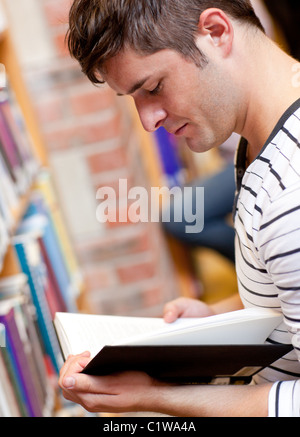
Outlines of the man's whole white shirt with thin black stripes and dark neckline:
{"type": "Polygon", "coordinates": [[[283,323],[268,342],[294,349],[255,377],[273,382],[269,416],[300,416],[300,99],[246,168],[236,156],[236,271],[245,307],[272,308],[283,323]]]}

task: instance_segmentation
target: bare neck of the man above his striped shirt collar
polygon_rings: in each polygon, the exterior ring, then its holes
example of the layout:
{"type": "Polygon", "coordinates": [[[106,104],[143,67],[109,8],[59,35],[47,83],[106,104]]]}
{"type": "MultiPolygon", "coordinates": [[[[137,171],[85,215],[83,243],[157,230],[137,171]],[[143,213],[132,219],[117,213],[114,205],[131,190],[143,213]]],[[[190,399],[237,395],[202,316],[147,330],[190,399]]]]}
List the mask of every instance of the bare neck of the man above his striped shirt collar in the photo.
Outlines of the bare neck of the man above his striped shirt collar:
{"type": "Polygon", "coordinates": [[[297,61],[275,44],[264,41],[251,62],[241,131],[248,140],[249,163],[260,152],[282,114],[300,97],[300,88],[293,82],[293,66],[297,61]]]}

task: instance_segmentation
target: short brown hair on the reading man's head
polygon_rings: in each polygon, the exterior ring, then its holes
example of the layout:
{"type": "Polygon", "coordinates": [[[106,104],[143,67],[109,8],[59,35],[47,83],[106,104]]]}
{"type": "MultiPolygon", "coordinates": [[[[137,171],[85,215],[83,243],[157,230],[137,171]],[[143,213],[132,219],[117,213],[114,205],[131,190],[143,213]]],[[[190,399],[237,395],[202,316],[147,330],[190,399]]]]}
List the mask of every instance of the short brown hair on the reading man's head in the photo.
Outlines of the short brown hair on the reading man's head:
{"type": "Polygon", "coordinates": [[[173,49],[201,66],[206,60],[195,35],[211,7],[264,30],[249,0],[75,0],[68,48],[93,83],[102,82],[97,73],[125,45],[143,54],[173,49]]]}

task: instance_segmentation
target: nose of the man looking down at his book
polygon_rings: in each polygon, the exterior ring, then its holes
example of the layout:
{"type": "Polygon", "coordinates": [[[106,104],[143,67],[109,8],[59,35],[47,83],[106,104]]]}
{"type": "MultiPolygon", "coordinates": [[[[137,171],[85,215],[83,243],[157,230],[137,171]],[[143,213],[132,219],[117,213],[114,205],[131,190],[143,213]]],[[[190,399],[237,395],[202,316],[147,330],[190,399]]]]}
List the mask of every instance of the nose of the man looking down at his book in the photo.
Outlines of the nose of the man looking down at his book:
{"type": "Polygon", "coordinates": [[[143,128],[147,132],[154,132],[163,125],[167,118],[166,111],[157,102],[146,100],[135,101],[143,128]]]}

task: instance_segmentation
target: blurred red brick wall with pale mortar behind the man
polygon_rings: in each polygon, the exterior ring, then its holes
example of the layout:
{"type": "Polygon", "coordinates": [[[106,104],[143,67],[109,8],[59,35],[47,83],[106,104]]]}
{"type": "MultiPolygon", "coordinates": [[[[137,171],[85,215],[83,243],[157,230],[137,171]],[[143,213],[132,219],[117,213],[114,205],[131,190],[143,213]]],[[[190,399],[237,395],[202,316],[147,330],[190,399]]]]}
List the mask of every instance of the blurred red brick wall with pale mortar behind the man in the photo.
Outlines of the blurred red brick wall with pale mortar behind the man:
{"type": "MultiPolygon", "coordinates": [[[[47,68],[27,72],[49,156],[79,148],[95,198],[101,186],[117,189],[120,178],[128,180],[128,188],[149,186],[126,108],[107,87],[90,84],[69,58],[64,46],[69,5],[69,0],[41,0],[57,55],[47,68]]],[[[72,235],[91,310],[160,314],[163,303],[178,295],[160,225],[128,222],[103,227],[104,232],[85,239],[72,235]]]]}

